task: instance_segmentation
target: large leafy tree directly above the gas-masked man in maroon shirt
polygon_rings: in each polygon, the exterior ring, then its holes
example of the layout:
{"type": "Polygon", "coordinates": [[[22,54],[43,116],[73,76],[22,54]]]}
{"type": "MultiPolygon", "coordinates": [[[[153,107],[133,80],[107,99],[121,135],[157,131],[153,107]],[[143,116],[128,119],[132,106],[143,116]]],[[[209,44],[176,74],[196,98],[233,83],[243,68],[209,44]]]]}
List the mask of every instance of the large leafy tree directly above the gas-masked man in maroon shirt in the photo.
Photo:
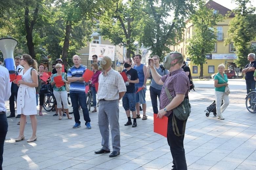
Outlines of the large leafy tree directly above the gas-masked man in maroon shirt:
{"type": "Polygon", "coordinates": [[[185,21],[201,0],[144,0],[145,17],[139,42],[162,59],[169,45],[182,39],[185,21]]]}

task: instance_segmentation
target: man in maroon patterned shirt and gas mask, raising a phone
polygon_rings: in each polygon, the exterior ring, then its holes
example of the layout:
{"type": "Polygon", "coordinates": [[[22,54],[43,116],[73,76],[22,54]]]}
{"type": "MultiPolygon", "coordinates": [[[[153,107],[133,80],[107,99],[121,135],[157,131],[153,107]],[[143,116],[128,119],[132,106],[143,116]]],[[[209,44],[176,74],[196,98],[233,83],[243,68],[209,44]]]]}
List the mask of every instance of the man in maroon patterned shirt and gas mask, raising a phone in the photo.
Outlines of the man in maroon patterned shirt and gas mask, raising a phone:
{"type": "MultiPolygon", "coordinates": [[[[150,59],[149,65],[151,74],[155,82],[159,85],[163,85],[160,95],[160,110],[157,117],[160,119],[163,116],[168,117],[167,126],[167,142],[170,146],[171,154],[173,157],[173,169],[172,170],[187,170],[185,150],[183,147],[184,134],[176,136],[173,131],[173,109],[181,104],[184,98],[188,97],[189,79],[186,73],[181,69],[183,63],[183,56],[179,52],[171,52],[163,59],[163,66],[169,70],[169,74],[161,76],[157,73],[154,67],[154,60],[150,59]],[[167,86],[167,88],[165,88],[167,86]],[[170,102],[166,90],[173,98],[170,102]]],[[[182,132],[185,129],[183,123],[186,120],[179,120],[174,117],[177,122],[178,131],[182,132]]]]}

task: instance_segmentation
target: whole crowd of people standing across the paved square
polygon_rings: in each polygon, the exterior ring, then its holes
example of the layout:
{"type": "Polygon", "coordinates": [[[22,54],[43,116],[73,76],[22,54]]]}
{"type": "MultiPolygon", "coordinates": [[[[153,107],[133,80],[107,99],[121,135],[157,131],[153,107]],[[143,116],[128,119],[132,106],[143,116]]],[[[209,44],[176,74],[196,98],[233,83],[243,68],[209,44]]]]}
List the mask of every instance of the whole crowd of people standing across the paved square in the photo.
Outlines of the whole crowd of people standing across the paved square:
{"type": "MultiPolygon", "coordinates": [[[[172,52],[164,58],[164,62],[160,65],[160,57],[153,55],[149,59],[148,67],[141,63],[141,55],[137,54],[132,59],[128,58],[124,61],[124,70],[122,72],[127,76],[127,80],[124,81],[119,72],[112,69],[112,60],[110,57],[104,56],[99,63],[97,55],[92,56],[93,61],[91,63],[91,69],[93,76],[89,83],[92,84],[92,96],[94,110],[92,112],[98,112],[98,126],[102,137],[102,148],[95,151],[95,154],[110,153],[109,144],[109,126],[112,135],[112,153],[109,157],[116,157],[120,154],[120,129],[119,129],[119,101],[122,99],[123,108],[126,112],[127,123],[124,126],[132,125],[133,128],[137,127],[137,118],[140,118],[140,104],[142,104],[142,120],[147,120],[146,115],[146,82],[147,78],[151,77],[150,84],[150,97],[154,114],[157,114],[158,118],[163,116],[168,117],[167,127],[167,142],[170,146],[171,154],[173,157],[173,169],[172,170],[186,170],[185,151],[183,147],[184,133],[177,135],[177,131],[185,131],[184,124],[187,120],[178,119],[173,109],[177,108],[185,99],[188,100],[188,92],[190,89],[190,81],[192,79],[190,69],[184,62],[183,55],[179,52],[172,52]],[[98,83],[98,90],[96,90],[96,83],[98,83]],[[97,110],[97,100],[99,107],[97,110]],[[158,101],[160,106],[158,107],[158,101]],[[131,117],[132,112],[132,117],[131,117]],[[133,119],[133,122],[132,120],[133,119]],[[175,121],[173,121],[175,119],[175,121]],[[174,125],[175,122],[175,125],[174,125]],[[177,129],[174,131],[173,126],[177,129]]],[[[17,116],[20,117],[20,131],[16,142],[24,140],[24,129],[26,125],[26,116],[30,116],[32,125],[32,136],[27,142],[33,142],[37,140],[36,127],[37,127],[37,101],[36,98],[39,94],[39,116],[42,116],[42,108],[45,102],[45,94],[48,91],[47,83],[53,86],[53,94],[56,99],[56,113],[53,116],[59,116],[61,120],[62,116],[67,116],[68,119],[72,119],[68,110],[68,97],[67,87],[70,85],[69,93],[72,102],[75,125],[73,128],[81,127],[79,108],[82,109],[83,118],[85,121],[86,129],[91,129],[91,119],[86,104],[85,93],[85,80],[83,74],[87,67],[81,64],[81,58],[78,55],[73,56],[74,66],[70,69],[64,69],[63,62],[59,58],[56,60],[56,64],[53,65],[52,74],[48,82],[44,82],[39,78],[43,76],[44,72],[48,71],[48,68],[44,64],[39,64],[32,59],[28,54],[23,54],[22,57],[15,57],[16,74],[22,75],[22,79],[9,82],[8,70],[0,66],[1,76],[0,89],[4,89],[0,93],[0,119],[1,123],[1,145],[0,155],[3,154],[3,144],[8,129],[6,108],[4,101],[9,99],[10,112],[7,116],[15,117],[15,104],[14,99],[17,99],[17,116]],[[38,78],[39,77],[39,78],[38,78]],[[61,86],[57,86],[56,77],[61,77],[61,86]],[[36,94],[36,88],[40,85],[40,91],[36,94]]],[[[255,88],[256,80],[256,64],[255,54],[249,54],[248,60],[250,63],[245,66],[242,71],[246,73],[246,88],[247,93],[249,89],[255,88]],[[254,75],[253,75],[254,73],[254,75]]],[[[225,66],[220,64],[218,66],[218,74],[214,78],[215,86],[215,100],[216,111],[218,119],[223,120],[222,113],[229,104],[228,95],[224,93],[225,87],[228,86],[227,75],[224,74],[225,66]]],[[[49,106],[52,107],[52,106],[49,106]]],[[[2,156],[0,156],[0,165],[2,165],[2,156]]]]}

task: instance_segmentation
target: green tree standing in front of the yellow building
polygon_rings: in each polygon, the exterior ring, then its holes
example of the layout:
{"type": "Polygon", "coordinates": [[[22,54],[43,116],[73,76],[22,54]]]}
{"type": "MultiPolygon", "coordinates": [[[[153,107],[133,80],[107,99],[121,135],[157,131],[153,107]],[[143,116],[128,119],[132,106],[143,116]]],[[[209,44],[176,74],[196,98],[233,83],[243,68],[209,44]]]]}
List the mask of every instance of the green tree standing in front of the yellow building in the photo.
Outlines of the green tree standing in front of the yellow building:
{"type": "Polygon", "coordinates": [[[214,51],[217,42],[217,30],[214,25],[223,21],[224,17],[201,4],[190,19],[194,24],[195,34],[187,39],[187,54],[192,63],[200,65],[200,77],[202,77],[203,64],[206,62],[205,55],[214,51]]]}

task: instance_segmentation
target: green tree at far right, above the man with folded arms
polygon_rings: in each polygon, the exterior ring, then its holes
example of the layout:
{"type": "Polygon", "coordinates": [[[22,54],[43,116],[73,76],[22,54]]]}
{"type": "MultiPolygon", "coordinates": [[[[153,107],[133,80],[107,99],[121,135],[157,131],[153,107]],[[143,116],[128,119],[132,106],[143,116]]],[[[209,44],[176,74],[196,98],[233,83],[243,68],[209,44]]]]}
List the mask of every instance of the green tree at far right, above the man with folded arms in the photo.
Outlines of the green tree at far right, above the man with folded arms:
{"type": "Polygon", "coordinates": [[[234,61],[237,67],[244,67],[247,63],[247,55],[255,53],[251,47],[251,41],[256,38],[256,15],[253,14],[250,0],[234,0],[238,5],[232,12],[235,17],[230,21],[225,45],[233,42],[237,59],[234,61]],[[248,7],[249,6],[249,7],[248,7]]]}

